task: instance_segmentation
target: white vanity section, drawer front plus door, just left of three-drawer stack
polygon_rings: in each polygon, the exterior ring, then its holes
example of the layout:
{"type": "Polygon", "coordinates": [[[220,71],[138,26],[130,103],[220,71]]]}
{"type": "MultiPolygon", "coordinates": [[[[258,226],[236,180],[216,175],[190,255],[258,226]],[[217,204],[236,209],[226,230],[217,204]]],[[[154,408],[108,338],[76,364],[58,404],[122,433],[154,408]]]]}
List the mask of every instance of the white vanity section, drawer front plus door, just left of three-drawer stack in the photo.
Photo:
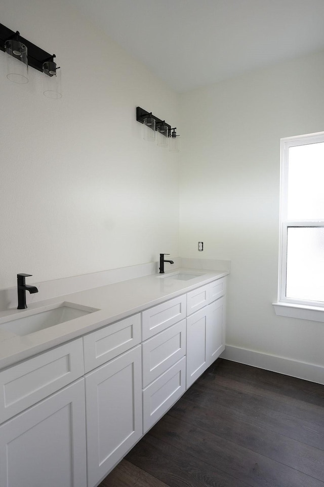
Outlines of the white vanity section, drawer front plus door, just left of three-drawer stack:
{"type": "Polygon", "coordinates": [[[142,436],[140,341],[140,315],[84,337],[86,370],[106,358],[85,375],[88,487],[104,478],[142,436]]]}

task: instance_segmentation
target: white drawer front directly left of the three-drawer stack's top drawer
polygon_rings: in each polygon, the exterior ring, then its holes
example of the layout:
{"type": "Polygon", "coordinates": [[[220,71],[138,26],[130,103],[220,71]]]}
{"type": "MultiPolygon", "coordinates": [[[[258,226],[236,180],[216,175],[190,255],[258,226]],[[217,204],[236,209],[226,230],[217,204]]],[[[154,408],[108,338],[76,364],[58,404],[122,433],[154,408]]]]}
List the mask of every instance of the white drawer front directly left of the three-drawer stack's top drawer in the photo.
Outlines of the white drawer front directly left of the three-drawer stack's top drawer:
{"type": "Polygon", "coordinates": [[[107,325],[83,340],[87,373],[141,342],[141,315],[107,325]]]}

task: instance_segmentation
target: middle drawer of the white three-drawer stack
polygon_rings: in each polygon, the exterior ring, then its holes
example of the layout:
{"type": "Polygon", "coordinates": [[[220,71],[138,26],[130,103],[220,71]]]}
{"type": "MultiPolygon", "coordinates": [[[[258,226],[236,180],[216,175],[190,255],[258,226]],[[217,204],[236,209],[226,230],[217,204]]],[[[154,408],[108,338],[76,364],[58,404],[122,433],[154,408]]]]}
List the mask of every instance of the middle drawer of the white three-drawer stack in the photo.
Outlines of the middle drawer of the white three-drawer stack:
{"type": "Polygon", "coordinates": [[[142,344],[143,387],[148,386],[186,354],[186,320],[142,344]]]}

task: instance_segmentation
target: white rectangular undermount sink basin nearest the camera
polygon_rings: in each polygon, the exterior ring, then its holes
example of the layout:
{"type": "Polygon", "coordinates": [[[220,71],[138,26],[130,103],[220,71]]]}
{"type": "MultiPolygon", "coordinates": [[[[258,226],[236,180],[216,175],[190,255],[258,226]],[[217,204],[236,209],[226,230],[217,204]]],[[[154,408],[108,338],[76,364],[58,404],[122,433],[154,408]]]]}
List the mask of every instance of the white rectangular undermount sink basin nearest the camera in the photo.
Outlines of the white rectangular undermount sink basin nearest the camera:
{"type": "Polygon", "coordinates": [[[94,311],[98,311],[98,309],[68,302],[46,306],[46,308],[28,309],[23,313],[2,318],[0,330],[20,336],[29,335],[29,333],[80,318],[94,311]]]}

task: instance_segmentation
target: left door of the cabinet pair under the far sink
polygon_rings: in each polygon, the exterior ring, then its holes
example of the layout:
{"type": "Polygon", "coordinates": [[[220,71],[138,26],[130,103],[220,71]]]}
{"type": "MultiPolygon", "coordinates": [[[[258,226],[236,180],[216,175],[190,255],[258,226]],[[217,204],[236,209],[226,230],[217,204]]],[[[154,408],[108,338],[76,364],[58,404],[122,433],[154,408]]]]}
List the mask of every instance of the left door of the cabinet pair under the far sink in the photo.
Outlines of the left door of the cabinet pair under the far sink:
{"type": "Polygon", "coordinates": [[[208,367],[207,326],[208,306],[187,318],[187,389],[208,367]]]}

